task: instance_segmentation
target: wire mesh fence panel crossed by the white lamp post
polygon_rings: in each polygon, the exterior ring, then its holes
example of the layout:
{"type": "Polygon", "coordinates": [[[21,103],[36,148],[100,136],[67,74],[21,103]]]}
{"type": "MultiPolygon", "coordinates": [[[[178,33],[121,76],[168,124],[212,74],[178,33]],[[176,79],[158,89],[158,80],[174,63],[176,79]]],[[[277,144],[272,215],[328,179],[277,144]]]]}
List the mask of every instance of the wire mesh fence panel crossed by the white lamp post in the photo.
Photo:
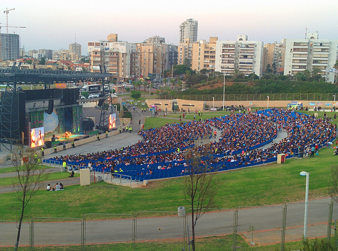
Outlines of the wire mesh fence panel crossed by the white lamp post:
{"type": "Polygon", "coordinates": [[[332,205],[329,203],[289,203],[286,205],[285,247],[288,242],[308,238],[330,237],[332,205]],[[307,210],[307,217],[305,211],[307,210]],[[306,228],[305,220],[307,220],[306,228]]]}

